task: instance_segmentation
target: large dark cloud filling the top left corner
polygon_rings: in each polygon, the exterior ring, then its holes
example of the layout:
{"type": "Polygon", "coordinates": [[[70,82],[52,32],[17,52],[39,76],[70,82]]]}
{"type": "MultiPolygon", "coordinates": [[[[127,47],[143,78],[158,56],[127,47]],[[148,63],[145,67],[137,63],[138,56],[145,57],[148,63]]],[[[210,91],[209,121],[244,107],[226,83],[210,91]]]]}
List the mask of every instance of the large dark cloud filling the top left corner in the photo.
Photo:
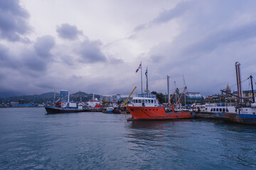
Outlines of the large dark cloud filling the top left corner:
{"type": "Polygon", "coordinates": [[[18,0],[0,1],[0,37],[10,41],[27,39],[21,35],[28,33],[29,14],[26,9],[21,8],[18,0]]]}

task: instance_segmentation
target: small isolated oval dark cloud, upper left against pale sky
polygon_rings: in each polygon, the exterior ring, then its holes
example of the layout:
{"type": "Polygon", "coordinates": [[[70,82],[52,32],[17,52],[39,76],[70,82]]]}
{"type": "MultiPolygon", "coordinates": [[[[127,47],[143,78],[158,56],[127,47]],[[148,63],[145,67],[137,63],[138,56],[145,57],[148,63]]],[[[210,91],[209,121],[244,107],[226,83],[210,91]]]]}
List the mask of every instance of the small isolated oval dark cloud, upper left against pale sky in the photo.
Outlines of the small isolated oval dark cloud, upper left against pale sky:
{"type": "Polygon", "coordinates": [[[82,30],[78,30],[76,26],[71,26],[68,23],[63,23],[61,26],[57,26],[56,31],[60,38],[68,40],[76,40],[78,35],[82,34],[82,30]]]}

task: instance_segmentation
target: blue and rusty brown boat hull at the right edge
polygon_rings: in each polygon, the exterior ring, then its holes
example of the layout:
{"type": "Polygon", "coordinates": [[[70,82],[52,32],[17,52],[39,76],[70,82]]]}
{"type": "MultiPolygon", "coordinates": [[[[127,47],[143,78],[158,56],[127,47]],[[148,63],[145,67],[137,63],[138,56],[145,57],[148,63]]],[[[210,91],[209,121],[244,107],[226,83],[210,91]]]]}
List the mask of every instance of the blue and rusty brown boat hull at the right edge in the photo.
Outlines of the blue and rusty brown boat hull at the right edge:
{"type": "Polygon", "coordinates": [[[256,125],[256,115],[238,113],[214,113],[215,118],[232,123],[256,125]]]}

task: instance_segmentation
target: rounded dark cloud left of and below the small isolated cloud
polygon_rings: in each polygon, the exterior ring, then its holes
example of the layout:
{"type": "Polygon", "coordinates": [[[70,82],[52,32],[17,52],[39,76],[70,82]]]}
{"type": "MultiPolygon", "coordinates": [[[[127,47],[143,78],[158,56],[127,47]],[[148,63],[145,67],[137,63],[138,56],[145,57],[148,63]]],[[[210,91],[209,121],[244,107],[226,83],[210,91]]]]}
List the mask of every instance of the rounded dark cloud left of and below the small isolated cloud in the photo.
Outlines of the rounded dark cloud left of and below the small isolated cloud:
{"type": "Polygon", "coordinates": [[[41,38],[37,38],[34,48],[36,54],[42,58],[48,58],[51,56],[50,50],[54,47],[55,40],[51,35],[44,35],[41,38]]]}

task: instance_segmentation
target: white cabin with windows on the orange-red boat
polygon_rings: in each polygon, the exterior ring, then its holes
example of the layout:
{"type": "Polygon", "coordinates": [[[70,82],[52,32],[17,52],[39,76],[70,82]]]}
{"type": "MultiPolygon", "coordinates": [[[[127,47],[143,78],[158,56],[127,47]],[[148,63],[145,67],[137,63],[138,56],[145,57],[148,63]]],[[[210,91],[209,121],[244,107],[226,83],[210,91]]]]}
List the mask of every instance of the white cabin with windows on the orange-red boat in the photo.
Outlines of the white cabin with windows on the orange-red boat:
{"type": "Polygon", "coordinates": [[[134,107],[156,107],[158,106],[158,101],[156,98],[144,98],[144,97],[134,97],[132,98],[132,103],[134,107]]]}

